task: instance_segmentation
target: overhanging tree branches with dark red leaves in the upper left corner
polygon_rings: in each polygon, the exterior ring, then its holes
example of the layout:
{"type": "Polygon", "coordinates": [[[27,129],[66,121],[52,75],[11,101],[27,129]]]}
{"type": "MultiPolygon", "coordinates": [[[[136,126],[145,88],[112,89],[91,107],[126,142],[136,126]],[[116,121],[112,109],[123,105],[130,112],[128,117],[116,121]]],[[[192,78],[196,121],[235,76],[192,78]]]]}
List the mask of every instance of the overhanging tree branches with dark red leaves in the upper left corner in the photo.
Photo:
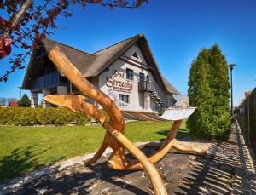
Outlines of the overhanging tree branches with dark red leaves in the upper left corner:
{"type": "Polygon", "coordinates": [[[9,59],[11,66],[0,76],[0,82],[7,81],[8,75],[16,69],[25,67],[26,56],[52,34],[51,30],[57,28],[56,20],[72,16],[73,6],[81,6],[84,10],[87,4],[133,9],[142,7],[143,3],[147,0],[0,0],[0,60],[11,53],[12,46],[23,50],[9,59]]]}

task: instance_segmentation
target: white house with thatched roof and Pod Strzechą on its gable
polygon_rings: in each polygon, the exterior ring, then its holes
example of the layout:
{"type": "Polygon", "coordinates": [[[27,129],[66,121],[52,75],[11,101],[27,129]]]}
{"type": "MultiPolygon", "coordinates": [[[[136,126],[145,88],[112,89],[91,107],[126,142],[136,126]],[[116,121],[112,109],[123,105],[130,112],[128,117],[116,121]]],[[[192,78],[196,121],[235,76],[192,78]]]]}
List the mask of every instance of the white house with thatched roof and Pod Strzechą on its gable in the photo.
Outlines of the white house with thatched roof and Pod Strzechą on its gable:
{"type": "MultiPolygon", "coordinates": [[[[112,97],[120,109],[156,112],[173,106],[173,96],[180,95],[161,75],[148,41],[141,34],[94,54],[45,39],[42,47],[33,51],[22,84],[23,89],[31,91],[32,107],[38,106],[40,93],[43,96],[80,94],[49,60],[47,54],[55,45],[61,48],[90,83],[112,97]]],[[[95,104],[92,100],[89,101],[95,104]]],[[[43,107],[49,106],[51,105],[43,103],[43,107]]]]}

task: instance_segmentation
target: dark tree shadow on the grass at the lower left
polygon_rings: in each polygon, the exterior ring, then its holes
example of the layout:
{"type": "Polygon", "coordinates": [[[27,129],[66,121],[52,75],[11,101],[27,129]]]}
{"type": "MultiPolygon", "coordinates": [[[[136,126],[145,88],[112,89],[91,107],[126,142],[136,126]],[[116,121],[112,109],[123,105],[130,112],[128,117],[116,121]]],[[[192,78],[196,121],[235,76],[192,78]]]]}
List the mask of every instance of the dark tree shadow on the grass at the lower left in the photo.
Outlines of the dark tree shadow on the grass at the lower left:
{"type": "Polygon", "coordinates": [[[0,157],[0,182],[45,165],[38,163],[38,158],[41,158],[41,155],[50,148],[41,152],[35,152],[35,146],[16,148],[10,154],[0,157]]]}

